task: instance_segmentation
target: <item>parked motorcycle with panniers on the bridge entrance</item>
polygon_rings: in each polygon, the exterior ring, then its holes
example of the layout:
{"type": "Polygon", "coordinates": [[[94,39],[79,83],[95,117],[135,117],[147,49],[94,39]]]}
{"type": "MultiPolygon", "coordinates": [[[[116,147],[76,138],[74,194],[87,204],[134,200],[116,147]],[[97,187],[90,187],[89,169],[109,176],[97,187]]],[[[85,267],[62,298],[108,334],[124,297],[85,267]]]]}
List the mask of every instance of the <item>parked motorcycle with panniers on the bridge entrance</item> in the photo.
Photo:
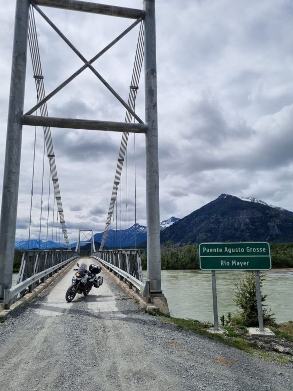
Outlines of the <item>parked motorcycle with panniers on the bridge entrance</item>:
{"type": "Polygon", "coordinates": [[[90,290],[94,286],[99,288],[103,284],[103,277],[96,276],[102,270],[101,266],[90,265],[89,270],[87,270],[87,265],[82,263],[80,266],[77,264],[78,269],[73,269],[77,271],[72,278],[72,285],[67,289],[65,298],[68,302],[72,301],[76,294],[84,294],[85,297],[90,293],[90,290]]]}

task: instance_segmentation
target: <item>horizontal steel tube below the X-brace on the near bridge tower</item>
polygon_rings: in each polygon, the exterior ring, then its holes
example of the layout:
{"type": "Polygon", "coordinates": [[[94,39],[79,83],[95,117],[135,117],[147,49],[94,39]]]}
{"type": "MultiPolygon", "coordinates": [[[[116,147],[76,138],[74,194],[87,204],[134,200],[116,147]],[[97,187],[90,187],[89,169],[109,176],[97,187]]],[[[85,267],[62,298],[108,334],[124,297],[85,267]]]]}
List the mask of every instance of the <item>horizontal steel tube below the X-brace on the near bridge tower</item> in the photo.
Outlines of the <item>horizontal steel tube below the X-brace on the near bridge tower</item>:
{"type": "Polygon", "coordinates": [[[24,115],[23,125],[53,128],[107,130],[112,132],[146,133],[148,126],[141,123],[95,121],[91,119],[42,117],[24,115]]]}

